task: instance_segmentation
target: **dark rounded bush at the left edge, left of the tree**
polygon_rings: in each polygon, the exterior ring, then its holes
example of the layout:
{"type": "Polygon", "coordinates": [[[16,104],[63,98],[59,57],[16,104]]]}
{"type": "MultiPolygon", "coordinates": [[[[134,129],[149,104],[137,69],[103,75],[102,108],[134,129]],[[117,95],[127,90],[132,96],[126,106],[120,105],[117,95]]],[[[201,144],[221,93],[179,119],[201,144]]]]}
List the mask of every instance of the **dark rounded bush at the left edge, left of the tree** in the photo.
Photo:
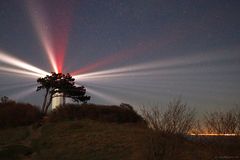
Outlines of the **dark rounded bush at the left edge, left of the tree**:
{"type": "Polygon", "coordinates": [[[31,104],[14,101],[0,103],[0,128],[30,125],[40,118],[39,109],[31,104]]]}

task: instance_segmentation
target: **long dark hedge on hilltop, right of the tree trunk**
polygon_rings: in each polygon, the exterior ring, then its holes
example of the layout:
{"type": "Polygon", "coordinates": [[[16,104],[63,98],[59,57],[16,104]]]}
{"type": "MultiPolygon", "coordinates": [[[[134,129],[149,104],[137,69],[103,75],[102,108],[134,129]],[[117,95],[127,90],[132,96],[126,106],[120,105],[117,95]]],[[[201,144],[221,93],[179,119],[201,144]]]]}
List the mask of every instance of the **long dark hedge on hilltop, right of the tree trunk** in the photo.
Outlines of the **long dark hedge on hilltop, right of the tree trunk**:
{"type": "Polygon", "coordinates": [[[133,109],[123,106],[106,106],[95,104],[60,106],[49,114],[52,122],[74,119],[91,119],[104,122],[143,122],[133,109]]]}

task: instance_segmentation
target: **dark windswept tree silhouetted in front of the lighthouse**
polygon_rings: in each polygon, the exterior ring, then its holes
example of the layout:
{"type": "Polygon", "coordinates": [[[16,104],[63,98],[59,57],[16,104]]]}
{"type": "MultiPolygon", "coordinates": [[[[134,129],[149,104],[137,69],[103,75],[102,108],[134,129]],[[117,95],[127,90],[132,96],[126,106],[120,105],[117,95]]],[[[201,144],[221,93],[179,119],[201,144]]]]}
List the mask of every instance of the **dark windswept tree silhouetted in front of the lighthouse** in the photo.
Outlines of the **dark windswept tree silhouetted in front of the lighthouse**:
{"type": "Polygon", "coordinates": [[[84,86],[77,87],[74,83],[75,79],[67,73],[54,73],[52,75],[47,75],[43,78],[38,78],[37,82],[40,84],[37,87],[37,91],[42,89],[46,90],[43,105],[42,113],[46,114],[47,110],[52,103],[52,98],[56,93],[62,93],[64,97],[72,98],[76,102],[86,103],[90,100],[90,96],[86,96],[86,89],[84,86]]]}

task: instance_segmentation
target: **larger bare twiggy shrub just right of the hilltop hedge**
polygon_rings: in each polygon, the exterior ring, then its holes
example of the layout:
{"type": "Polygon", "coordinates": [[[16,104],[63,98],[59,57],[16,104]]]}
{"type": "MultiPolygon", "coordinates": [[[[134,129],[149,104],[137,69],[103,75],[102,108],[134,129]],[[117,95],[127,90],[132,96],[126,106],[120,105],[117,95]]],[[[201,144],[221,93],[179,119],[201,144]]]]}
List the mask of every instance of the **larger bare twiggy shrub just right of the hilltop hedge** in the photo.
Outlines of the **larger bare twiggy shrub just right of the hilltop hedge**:
{"type": "Polygon", "coordinates": [[[159,107],[142,107],[141,114],[150,128],[167,134],[186,134],[195,123],[195,111],[181,99],[170,101],[164,112],[159,107]]]}

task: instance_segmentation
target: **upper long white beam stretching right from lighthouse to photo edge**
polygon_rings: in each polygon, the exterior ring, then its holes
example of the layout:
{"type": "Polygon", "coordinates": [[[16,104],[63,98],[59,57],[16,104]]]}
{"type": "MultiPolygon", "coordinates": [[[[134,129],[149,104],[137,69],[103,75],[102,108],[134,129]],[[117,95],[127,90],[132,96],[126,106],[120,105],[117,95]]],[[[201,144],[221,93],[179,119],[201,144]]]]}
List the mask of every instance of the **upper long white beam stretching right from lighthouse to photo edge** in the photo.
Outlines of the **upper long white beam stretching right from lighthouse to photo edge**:
{"type": "Polygon", "coordinates": [[[124,72],[136,72],[143,70],[156,70],[156,69],[165,69],[165,68],[178,68],[178,67],[189,67],[189,65],[203,65],[205,63],[219,63],[222,61],[232,61],[239,59],[236,50],[232,50],[235,54],[232,57],[228,57],[228,50],[213,50],[204,53],[198,53],[194,56],[187,55],[185,57],[176,57],[172,59],[161,59],[152,62],[146,62],[136,65],[129,65],[124,67],[119,67],[115,69],[102,70],[97,72],[91,72],[86,74],[74,75],[76,79],[83,77],[91,77],[96,75],[108,75],[108,74],[116,74],[116,73],[124,73],[124,72]]]}

